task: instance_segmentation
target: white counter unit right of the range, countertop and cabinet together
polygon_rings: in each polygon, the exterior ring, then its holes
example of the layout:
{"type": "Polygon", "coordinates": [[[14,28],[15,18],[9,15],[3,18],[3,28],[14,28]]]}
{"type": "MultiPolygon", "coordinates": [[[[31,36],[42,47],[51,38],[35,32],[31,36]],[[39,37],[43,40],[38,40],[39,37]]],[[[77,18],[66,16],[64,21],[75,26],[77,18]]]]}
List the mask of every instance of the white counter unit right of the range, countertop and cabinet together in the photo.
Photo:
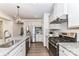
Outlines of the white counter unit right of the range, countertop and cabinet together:
{"type": "Polygon", "coordinates": [[[59,43],[59,56],[79,56],[79,42],[59,43]]]}

